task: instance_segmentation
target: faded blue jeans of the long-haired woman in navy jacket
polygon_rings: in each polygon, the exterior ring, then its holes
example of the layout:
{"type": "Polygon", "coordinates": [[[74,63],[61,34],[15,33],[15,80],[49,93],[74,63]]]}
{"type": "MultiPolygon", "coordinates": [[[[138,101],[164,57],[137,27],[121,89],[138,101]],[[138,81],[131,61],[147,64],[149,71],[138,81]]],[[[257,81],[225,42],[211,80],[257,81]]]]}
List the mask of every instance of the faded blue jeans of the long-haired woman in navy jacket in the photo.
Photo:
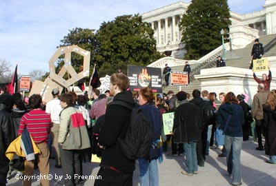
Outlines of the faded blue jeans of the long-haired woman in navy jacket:
{"type": "Polygon", "coordinates": [[[242,137],[225,135],[224,147],[226,149],[227,172],[233,175],[233,183],[240,183],[241,178],[241,151],[242,137]]]}

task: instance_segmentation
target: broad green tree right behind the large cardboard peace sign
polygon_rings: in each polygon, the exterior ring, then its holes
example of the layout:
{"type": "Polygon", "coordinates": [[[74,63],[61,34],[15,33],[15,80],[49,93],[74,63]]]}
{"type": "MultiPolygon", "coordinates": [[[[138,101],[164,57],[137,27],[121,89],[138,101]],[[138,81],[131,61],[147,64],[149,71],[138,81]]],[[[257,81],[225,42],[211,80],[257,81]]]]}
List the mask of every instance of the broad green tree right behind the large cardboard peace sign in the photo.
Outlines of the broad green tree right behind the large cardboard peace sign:
{"type": "Polygon", "coordinates": [[[153,34],[154,30],[139,14],[103,22],[96,33],[99,48],[93,58],[100,67],[99,75],[112,74],[118,68],[126,73],[128,64],[148,65],[160,59],[153,34]]]}

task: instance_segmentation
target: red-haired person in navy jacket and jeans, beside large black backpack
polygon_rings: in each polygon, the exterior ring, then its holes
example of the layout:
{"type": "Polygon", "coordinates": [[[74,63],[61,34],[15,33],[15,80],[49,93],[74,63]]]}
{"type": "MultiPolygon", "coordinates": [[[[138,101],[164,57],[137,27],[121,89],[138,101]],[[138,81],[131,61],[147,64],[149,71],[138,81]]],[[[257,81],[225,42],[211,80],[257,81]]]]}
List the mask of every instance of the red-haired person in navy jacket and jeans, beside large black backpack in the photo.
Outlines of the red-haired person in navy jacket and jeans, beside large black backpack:
{"type": "Polygon", "coordinates": [[[139,170],[140,170],[140,185],[159,185],[158,166],[162,162],[162,142],[160,141],[162,118],[159,110],[153,105],[154,96],[149,87],[144,87],[139,91],[138,97],[141,110],[146,116],[153,131],[153,142],[148,157],[139,158],[139,170]]]}

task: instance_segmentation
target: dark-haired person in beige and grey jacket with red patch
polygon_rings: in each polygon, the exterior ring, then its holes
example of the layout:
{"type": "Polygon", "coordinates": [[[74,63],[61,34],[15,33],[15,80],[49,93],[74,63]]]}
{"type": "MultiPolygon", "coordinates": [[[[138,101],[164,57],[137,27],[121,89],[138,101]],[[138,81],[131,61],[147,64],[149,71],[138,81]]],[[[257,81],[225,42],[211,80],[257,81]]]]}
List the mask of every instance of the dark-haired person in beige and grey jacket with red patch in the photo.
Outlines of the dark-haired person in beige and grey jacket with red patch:
{"type": "Polygon", "coordinates": [[[61,162],[64,174],[72,179],[65,179],[65,185],[77,185],[82,181],[82,152],[90,148],[86,123],[79,110],[77,94],[66,92],[59,96],[63,108],[60,113],[59,145],[61,145],[61,162]],[[78,175],[78,176],[75,176],[78,175]]]}

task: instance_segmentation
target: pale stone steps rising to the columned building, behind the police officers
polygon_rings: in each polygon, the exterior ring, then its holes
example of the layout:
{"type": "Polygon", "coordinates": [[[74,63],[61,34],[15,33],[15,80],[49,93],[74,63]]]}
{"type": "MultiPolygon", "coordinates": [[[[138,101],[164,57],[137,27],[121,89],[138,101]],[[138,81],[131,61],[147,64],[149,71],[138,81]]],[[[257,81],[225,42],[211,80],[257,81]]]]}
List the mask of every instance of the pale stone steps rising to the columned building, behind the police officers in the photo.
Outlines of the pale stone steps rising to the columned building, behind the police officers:
{"type": "MultiPolygon", "coordinates": [[[[259,37],[259,42],[264,45],[264,57],[268,56],[276,56],[276,34],[270,34],[270,35],[264,35],[262,37],[259,37]]],[[[226,51],[226,66],[232,66],[236,68],[249,68],[250,65],[250,60],[251,60],[251,50],[254,45],[254,41],[246,45],[245,48],[238,49],[238,50],[230,50],[226,51]]],[[[216,66],[216,61],[217,59],[211,59],[209,60],[206,64],[192,64],[191,69],[205,69],[205,68],[215,68],[216,66]]],[[[174,66],[172,67],[172,70],[177,70],[177,71],[183,71],[184,65],[180,66],[174,66]]],[[[197,70],[200,71],[200,70],[197,70]]],[[[195,71],[194,71],[195,72],[195,71]]],[[[165,82],[165,81],[163,81],[165,82]]],[[[193,79],[193,81],[188,85],[188,87],[183,87],[181,86],[163,86],[163,92],[167,93],[168,90],[172,90],[175,92],[179,92],[179,90],[183,90],[185,92],[188,92],[192,94],[193,90],[199,89],[201,90],[200,87],[200,82],[197,79],[193,79]]]]}

